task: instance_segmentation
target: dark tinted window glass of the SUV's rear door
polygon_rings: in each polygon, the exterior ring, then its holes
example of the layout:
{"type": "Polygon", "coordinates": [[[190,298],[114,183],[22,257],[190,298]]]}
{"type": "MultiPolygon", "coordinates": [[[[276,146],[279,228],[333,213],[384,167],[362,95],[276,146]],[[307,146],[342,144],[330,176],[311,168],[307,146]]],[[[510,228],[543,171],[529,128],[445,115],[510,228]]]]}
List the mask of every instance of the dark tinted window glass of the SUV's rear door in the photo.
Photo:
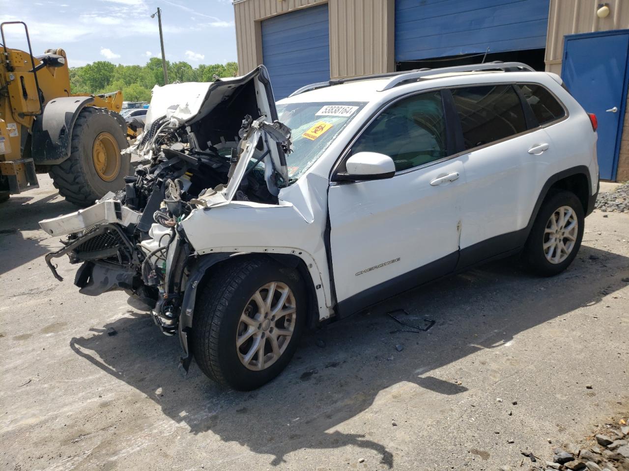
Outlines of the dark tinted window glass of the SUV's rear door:
{"type": "Polygon", "coordinates": [[[522,103],[511,85],[453,89],[452,98],[463,129],[465,149],[526,131],[522,103]]]}

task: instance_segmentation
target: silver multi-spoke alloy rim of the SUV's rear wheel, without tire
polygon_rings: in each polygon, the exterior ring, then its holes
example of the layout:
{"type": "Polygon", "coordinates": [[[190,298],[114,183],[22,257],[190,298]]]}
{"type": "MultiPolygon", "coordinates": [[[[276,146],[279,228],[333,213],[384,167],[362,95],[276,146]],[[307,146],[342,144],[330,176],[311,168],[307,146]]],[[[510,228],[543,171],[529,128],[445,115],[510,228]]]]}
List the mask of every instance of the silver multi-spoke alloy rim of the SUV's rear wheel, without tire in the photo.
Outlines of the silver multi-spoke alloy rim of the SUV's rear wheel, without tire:
{"type": "Polygon", "coordinates": [[[557,208],[546,223],[543,250],[552,264],[562,263],[571,254],[577,241],[579,221],[569,206],[557,208]]]}

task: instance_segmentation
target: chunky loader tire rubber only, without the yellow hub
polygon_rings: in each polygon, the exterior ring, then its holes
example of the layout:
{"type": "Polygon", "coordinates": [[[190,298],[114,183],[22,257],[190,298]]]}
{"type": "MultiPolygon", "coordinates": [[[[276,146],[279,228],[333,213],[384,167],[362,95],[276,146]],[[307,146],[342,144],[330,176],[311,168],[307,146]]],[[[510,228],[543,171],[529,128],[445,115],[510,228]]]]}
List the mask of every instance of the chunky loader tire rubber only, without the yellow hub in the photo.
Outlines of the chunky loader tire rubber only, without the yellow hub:
{"type": "Polygon", "coordinates": [[[106,193],[115,193],[125,186],[125,176],[131,168],[128,154],[120,155],[120,168],[110,181],[98,175],[92,158],[94,141],[101,133],[111,134],[121,151],[128,146],[126,129],[116,118],[113,111],[93,106],[87,106],[79,113],[72,128],[70,157],[50,168],[53,185],[70,203],[86,207],[106,193]]]}

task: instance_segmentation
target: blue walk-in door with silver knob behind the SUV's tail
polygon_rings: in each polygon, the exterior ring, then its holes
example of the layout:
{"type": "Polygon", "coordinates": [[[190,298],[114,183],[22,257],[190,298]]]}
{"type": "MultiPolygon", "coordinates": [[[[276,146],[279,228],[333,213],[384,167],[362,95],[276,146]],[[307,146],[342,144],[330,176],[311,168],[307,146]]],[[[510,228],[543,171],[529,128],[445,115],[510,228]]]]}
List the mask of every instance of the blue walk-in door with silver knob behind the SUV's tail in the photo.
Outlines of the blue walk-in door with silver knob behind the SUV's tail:
{"type": "Polygon", "coordinates": [[[616,179],[627,95],[629,30],[565,36],[561,75],[573,97],[598,119],[601,178],[616,179]]]}

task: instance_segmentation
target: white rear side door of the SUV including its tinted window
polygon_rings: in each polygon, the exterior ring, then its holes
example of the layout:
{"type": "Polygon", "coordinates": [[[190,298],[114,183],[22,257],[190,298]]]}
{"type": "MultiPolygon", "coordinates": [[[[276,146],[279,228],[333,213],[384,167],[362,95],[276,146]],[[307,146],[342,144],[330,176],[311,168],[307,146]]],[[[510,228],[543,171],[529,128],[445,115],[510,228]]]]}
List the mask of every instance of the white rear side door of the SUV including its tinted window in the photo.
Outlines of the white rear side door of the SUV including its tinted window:
{"type": "Polygon", "coordinates": [[[451,92],[467,151],[461,157],[467,183],[459,260],[465,268],[523,244],[522,229],[539,194],[537,180],[545,175],[540,168],[554,149],[545,129],[527,119],[513,85],[451,92]]]}

